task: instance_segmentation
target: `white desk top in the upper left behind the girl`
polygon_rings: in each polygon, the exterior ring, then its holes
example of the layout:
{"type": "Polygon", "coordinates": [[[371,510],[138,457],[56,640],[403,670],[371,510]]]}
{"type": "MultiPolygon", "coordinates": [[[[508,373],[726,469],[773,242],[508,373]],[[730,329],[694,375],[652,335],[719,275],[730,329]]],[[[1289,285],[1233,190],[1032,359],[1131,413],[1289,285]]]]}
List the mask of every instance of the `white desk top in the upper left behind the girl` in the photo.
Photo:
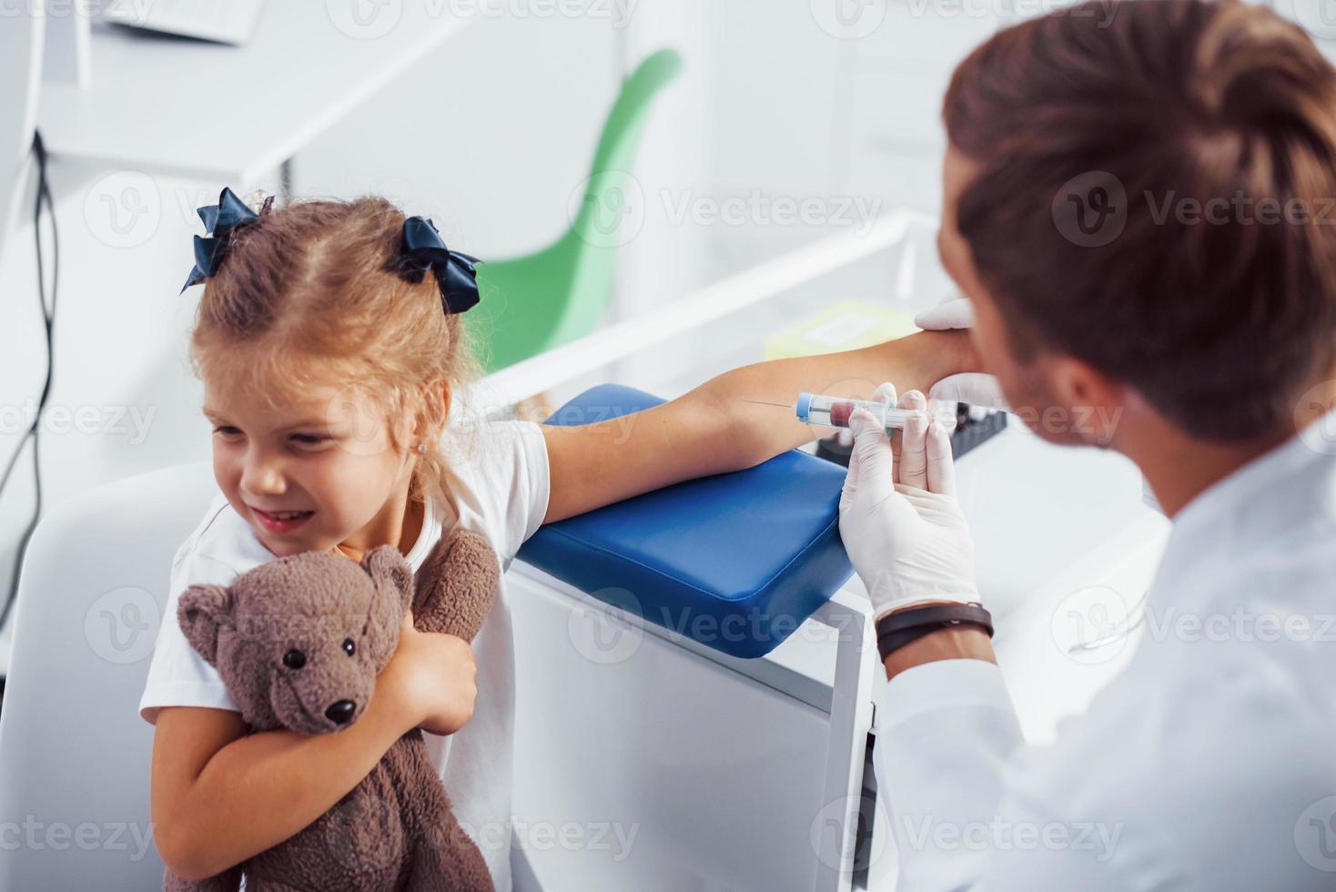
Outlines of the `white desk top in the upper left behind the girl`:
{"type": "MultiPolygon", "coordinates": [[[[244,47],[95,23],[92,83],[41,87],[53,156],[253,183],[390,84],[470,19],[449,4],[271,0],[244,47]],[[331,11],[346,7],[346,19],[331,11]],[[263,96],[247,103],[246,97],[263,96]]],[[[422,92],[430,107],[432,88],[422,92]]],[[[444,87],[442,87],[444,88],[444,87]]]]}

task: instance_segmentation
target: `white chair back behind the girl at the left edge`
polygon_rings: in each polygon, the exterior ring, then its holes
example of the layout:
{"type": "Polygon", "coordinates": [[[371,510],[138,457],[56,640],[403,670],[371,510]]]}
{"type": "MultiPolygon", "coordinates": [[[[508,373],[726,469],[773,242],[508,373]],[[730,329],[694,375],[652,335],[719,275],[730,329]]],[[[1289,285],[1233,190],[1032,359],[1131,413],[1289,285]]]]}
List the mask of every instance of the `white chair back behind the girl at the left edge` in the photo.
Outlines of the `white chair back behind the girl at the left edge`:
{"type": "Polygon", "coordinates": [[[0,889],[162,888],[139,697],[171,560],[218,493],[207,462],[60,503],[23,562],[0,709],[0,889]]]}

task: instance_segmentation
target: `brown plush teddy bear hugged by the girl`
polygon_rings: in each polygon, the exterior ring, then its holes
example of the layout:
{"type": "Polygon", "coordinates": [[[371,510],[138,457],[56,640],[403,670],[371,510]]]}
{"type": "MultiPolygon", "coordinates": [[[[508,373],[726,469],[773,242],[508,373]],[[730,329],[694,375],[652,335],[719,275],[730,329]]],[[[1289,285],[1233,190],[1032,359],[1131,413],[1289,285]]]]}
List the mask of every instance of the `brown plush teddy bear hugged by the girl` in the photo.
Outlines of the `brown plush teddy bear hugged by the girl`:
{"type": "MultiPolygon", "coordinates": [[[[178,620],[214,665],[251,732],[327,734],[366,709],[375,676],[413,624],[470,641],[492,606],[500,566],[477,533],[442,539],[417,580],[398,549],[361,564],[307,551],[262,564],[230,586],[192,585],[178,620]],[[414,589],[417,597],[414,600],[414,589]]],[[[482,853],[460,827],[422,730],[399,737],[361,784],[314,824],[199,883],[171,871],[168,892],[490,891],[482,853]]]]}

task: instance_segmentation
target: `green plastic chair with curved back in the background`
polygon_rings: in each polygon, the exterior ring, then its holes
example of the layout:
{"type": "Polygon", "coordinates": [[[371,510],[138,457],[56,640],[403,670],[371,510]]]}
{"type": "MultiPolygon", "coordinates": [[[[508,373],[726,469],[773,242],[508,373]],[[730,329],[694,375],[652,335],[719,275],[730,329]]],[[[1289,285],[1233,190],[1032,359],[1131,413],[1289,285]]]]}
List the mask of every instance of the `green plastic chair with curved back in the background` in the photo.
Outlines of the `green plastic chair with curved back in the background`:
{"type": "MultiPolygon", "coordinates": [[[[477,267],[481,302],[469,322],[486,371],[505,369],[593,331],[612,298],[617,228],[649,103],[681,71],[681,57],[660,49],[627,77],[599,138],[570,228],[552,246],[477,267]]],[[[639,208],[641,212],[644,208],[639,208]]]]}

